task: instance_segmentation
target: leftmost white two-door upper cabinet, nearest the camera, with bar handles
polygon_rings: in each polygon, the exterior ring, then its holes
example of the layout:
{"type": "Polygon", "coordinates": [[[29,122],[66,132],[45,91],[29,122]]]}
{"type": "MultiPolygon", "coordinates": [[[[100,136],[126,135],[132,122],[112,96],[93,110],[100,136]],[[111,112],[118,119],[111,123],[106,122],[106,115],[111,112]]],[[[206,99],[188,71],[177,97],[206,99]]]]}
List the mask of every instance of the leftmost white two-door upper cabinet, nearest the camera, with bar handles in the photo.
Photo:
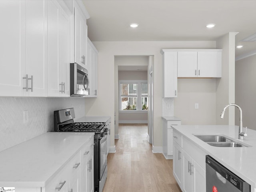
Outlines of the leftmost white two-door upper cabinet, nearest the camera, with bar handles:
{"type": "Polygon", "coordinates": [[[1,96],[46,96],[45,1],[0,1],[1,96]],[[8,19],[6,19],[8,16],[8,19]]]}

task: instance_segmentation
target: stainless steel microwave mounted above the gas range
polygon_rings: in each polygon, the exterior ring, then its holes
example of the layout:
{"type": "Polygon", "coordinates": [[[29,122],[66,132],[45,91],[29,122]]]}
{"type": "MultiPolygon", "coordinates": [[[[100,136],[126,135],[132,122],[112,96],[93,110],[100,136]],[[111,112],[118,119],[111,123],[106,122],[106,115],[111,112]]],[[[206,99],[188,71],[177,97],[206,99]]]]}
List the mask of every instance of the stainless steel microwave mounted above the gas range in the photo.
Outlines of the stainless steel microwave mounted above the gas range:
{"type": "Polygon", "coordinates": [[[88,95],[88,70],[77,63],[70,63],[70,96],[88,95]]]}

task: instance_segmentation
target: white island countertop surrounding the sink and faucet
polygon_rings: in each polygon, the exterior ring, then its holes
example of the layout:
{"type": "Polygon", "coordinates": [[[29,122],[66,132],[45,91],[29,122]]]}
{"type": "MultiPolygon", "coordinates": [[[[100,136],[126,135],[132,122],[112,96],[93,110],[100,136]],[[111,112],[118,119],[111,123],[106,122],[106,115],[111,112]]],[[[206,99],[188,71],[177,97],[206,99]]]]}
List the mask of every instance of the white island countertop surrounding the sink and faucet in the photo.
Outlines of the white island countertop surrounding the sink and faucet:
{"type": "Polygon", "coordinates": [[[180,125],[172,126],[198,147],[256,188],[256,131],[247,129],[247,137],[238,139],[238,126],[224,125],[180,125]],[[196,138],[193,134],[224,135],[251,147],[214,147],[196,138]]]}

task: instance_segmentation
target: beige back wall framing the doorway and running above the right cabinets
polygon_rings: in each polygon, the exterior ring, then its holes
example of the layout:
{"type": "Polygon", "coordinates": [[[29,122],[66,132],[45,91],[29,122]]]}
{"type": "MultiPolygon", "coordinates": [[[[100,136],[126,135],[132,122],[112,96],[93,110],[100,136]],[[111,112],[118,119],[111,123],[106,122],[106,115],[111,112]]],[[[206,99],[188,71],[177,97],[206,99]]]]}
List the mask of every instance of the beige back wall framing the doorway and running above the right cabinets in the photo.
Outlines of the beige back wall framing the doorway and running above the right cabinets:
{"type": "MultiPolygon", "coordinates": [[[[154,126],[153,144],[162,146],[162,55],[161,49],[216,48],[215,41],[175,41],[175,42],[93,42],[98,54],[98,98],[86,102],[86,115],[109,115],[114,119],[115,111],[115,56],[154,56],[154,126]]],[[[185,105],[180,106],[186,108],[185,105]]],[[[212,118],[216,118],[213,116],[212,118]]],[[[111,125],[114,132],[114,125],[111,125]]],[[[111,135],[114,146],[114,134],[111,135]]],[[[154,147],[153,146],[153,147],[154,147]]]]}

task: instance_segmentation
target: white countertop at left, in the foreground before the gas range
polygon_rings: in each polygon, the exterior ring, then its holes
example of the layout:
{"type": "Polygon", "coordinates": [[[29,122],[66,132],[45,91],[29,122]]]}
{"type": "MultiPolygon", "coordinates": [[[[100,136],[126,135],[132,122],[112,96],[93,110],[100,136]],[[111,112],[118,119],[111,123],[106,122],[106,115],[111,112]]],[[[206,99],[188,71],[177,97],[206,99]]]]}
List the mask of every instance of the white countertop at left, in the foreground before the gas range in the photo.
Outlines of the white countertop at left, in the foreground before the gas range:
{"type": "Polygon", "coordinates": [[[0,152],[0,186],[43,187],[94,133],[47,132],[0,152]]]}

